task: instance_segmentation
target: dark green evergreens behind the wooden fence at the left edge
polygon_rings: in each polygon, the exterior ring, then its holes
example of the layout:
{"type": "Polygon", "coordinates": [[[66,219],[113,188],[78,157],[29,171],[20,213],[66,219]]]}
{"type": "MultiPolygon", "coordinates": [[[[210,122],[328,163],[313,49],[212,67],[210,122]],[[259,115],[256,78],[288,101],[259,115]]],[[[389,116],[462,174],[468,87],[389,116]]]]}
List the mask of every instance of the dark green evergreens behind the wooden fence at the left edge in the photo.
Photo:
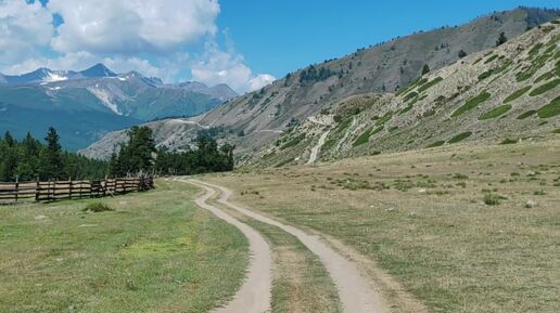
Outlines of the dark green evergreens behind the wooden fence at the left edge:
{"type": "Polygon", "coordinates": [[[44,143],[29,133],[18,142],[10,132],[0,140],[0,181],[101,179],[107,162],[64,152],[56,130],[50,128],[44,143]]]}

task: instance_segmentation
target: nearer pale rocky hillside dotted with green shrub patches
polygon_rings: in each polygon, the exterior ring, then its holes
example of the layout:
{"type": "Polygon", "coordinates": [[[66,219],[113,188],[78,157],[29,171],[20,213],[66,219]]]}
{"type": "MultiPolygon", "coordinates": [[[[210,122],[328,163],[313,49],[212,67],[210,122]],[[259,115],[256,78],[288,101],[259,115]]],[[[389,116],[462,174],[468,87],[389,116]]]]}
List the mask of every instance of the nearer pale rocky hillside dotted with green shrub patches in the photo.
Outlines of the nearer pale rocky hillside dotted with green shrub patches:
{"type": "Polygon", "coordinates": [[[463,141],[552,136],[560,132],[559,24],[471,53],[396,93],[336,102],[244,162],[278,167],[463,141]]]}

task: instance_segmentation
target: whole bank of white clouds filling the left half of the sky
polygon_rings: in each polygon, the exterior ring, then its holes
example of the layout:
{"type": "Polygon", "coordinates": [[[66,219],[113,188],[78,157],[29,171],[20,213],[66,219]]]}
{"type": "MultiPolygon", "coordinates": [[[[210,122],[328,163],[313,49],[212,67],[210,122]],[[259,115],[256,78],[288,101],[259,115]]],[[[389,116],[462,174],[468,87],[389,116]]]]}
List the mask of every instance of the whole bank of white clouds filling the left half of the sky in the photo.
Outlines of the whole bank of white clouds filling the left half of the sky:
{"type": "Polygon", "coordinates": [[[190,71],[193,80],[241,93],[271,83],[271,75],[251,70],[227,30],[220,32],[227,49],[216,43],[219,13],[218,0],[0,0],[0,70],[79,70],[103,63],[164,81],[190,71]],[[53,14],[62,24],[53,25],[53,14]],[[189,56],[189,48],[201,45],[202,55],[189,56]]]}

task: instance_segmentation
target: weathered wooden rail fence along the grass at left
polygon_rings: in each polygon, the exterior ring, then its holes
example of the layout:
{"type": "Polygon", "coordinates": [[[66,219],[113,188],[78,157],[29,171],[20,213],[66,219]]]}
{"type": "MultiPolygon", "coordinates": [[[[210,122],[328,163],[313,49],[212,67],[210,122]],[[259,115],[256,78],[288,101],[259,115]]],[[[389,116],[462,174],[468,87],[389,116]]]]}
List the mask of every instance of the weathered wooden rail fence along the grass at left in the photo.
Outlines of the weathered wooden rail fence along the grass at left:
{"type": "Polygon", "coordinates": [[[53,201],[122,195],[152,190],[152,177],[105,179],[97,181],[48,181],[0,183],[0,203],[53,201]]]}

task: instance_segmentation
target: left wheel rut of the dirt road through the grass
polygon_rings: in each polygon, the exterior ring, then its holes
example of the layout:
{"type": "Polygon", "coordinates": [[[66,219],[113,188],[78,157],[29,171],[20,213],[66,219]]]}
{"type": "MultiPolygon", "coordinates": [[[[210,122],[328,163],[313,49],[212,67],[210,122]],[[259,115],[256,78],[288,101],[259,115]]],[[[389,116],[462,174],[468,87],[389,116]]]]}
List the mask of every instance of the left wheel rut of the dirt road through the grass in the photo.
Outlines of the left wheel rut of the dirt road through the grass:
{"type": "MultiPolygon", "coordinates": [[[[272,257],[270,247],[263,236],[252,229],[207,203],[216,195],[216,190],[194,181],[180,180],[194,184],[205,191],[203,195],[195,198],[195,203],[203,209],[214,213],[217,218],[238,227],[249,240],[251,251],[251,263],[247,269],[246,279],[236,294],[233,299],[222,308],[213,313],[265,313],[270,312],[271,286],[272,286],[272,257]]],[[[227,264],[225,264],[227,266],[227,264]]]]}

